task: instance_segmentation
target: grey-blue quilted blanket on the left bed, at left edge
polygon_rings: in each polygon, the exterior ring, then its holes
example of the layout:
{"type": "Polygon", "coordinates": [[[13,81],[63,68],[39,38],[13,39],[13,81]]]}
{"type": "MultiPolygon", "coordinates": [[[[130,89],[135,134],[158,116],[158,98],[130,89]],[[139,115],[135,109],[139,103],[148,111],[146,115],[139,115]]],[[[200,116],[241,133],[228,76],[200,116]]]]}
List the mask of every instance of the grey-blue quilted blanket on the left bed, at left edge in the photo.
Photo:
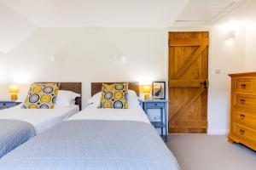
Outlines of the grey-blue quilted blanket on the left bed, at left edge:
{"type": "Polygon", "coordinates": [[[28,122],[0,120],[0,158],[35,134],[34,127],[28,122]]]}

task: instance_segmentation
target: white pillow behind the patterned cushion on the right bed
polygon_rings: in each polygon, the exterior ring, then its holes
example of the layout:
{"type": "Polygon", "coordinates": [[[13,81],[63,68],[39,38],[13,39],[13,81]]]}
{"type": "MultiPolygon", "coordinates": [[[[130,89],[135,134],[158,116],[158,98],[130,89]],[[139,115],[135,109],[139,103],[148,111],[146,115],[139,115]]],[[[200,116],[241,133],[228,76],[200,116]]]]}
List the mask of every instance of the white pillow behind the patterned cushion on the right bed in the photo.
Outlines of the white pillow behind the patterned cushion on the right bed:
{"type": "MultiPolygon", "coordinates": [[[[88,104],[97,104],[100,105],[101,103],[101,96],[102,96],[102,92],[99,92],[95,95],[93,95],[90,99],[87,100],[88,104]]],[[[137,105],[139,105],[139,99],[137,97],[137,94],[135,91],[133,90],[128,90],[128,106],[129,108],[134,108],[137,105]]]]}

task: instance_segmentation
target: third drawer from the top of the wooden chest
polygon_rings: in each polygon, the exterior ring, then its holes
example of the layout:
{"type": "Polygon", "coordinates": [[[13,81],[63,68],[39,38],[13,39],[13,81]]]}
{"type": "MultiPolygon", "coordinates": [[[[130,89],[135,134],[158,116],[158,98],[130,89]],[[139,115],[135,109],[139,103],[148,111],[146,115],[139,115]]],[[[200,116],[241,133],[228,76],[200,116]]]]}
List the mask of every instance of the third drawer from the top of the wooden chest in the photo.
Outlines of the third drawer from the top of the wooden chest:
{"type": "Polygon", "coordinates": [[[235,109],[234,114],[235,122],[256,130],[256,111],[235,109]]]}

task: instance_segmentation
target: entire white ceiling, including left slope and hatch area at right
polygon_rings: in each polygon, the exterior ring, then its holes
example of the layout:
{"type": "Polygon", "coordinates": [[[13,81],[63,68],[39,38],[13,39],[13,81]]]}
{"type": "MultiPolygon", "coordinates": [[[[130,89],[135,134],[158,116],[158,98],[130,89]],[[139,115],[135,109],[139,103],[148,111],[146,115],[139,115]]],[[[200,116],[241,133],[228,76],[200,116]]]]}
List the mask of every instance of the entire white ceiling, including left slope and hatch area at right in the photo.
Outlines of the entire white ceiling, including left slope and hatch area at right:
{"type": "Polygon", "coordinates": [[[222,18],[255,0],[0,0],[0,52],[38,27],[169,27],[222,18]]]}

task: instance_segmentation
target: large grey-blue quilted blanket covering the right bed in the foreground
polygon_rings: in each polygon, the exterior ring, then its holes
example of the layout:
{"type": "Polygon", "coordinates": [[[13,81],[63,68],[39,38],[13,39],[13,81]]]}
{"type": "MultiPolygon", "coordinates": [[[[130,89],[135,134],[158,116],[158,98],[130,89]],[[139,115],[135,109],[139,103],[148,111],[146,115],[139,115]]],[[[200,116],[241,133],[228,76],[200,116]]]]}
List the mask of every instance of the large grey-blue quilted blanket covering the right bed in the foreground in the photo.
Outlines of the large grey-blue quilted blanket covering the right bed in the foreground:
{"type": "Polygon", "coordinates": [[[61,122],[3,156],[5,170],[177,170],[175,157],[150,124],[61,122]]]}

